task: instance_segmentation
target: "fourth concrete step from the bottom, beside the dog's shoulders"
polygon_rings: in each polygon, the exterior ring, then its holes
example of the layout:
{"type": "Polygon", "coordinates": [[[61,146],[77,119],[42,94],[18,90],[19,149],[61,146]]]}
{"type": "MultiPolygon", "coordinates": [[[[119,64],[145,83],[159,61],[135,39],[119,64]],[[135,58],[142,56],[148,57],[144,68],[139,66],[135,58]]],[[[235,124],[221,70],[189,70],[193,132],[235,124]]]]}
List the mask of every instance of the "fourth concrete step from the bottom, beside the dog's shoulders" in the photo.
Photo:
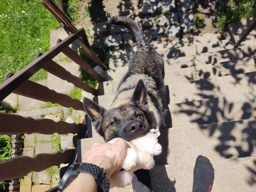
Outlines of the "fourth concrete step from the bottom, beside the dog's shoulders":
{"type": "MultiPolygon", "coordinates": [[[[256,72],[222,76],[214,79],[202,79],[192,82],[165,80],[167,102],[170,104],[199,101],[201,99],[238,95],[256,91],[256,72]]],[[[114,94],[95,97],[101,106],[109,108],[114,94]]]]}

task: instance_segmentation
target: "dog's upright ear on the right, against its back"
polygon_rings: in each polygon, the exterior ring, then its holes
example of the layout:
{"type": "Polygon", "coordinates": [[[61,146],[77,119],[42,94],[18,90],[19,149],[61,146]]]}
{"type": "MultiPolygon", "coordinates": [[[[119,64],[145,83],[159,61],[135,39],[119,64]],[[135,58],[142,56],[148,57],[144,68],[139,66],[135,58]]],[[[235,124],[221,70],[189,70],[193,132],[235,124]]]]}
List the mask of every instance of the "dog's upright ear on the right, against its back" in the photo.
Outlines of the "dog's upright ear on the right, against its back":
{"type": "Polygon", "coordinates": [[[140,79],[135,87],[131,102],[142,110],[148,109],[148,93],[142,79],[140,79]]]}

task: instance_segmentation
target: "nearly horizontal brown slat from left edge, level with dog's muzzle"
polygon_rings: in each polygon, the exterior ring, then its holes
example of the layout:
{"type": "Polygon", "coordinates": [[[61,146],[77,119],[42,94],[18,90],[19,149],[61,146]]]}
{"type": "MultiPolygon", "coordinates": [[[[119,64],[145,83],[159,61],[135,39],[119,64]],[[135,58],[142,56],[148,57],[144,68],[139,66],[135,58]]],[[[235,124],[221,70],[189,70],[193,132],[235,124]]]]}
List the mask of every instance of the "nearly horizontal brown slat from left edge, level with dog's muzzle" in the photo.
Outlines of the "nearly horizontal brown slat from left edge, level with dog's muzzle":
{"type": "Polygon", "coordinates": [[[0,134],[81,134],[86,129],[84,124],[67,123],[64,121],[54,122],[51,119],[33,119],[20,115],[0,113],[0,134]]]}

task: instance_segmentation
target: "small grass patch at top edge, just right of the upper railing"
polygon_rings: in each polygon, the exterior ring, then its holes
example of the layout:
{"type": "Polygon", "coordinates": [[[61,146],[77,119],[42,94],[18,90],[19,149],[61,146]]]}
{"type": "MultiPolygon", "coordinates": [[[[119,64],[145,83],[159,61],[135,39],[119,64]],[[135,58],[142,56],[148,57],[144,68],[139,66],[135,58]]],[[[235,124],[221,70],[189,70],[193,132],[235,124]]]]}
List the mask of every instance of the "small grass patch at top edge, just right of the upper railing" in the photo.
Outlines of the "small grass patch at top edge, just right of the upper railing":
{"type": "Polygon", "coordinates": [[[65,14],[73,21],[76,22],[79,18],[80,0],[68,0],[64,3],[63,9],[65,14]]]}

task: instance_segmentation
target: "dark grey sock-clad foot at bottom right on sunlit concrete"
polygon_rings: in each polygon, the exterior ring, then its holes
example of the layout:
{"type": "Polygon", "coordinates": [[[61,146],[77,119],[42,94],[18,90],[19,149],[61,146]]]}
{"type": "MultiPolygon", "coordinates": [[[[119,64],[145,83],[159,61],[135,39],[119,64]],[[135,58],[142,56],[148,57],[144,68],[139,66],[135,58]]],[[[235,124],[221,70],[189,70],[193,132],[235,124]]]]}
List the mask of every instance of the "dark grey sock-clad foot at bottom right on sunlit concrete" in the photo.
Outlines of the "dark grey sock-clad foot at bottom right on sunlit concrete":
{"type": "Polygon", "coordinates": [[[195,162],[192,192],[211,192],[214,169],[209,159],[199,155],[195,162]]]}

